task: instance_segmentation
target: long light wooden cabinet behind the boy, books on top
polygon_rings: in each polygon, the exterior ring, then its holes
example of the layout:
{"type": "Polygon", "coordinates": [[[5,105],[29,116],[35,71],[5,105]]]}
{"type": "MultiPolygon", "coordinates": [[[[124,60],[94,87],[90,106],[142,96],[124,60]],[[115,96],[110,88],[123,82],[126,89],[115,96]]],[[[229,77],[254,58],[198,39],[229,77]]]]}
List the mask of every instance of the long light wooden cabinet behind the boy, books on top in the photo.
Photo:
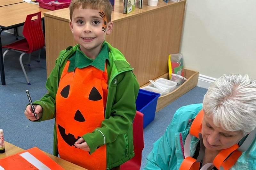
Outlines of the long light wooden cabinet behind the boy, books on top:
{"type": "MultiPolygon", "coordinates": [[[[113,31],[106,36],[134,68],[138,82],[144,85],[168,72],[168,55],[180,52],[180,38],[186,0],[174,3],[158,1],[157,6],[136,8],[123,14],[123,1],[115,1],[112,12],[113,31]]],[[[76,41],[69,28],[69,9],[44,13],[46,71],[49,76],[59,52],[76,41]]]]}

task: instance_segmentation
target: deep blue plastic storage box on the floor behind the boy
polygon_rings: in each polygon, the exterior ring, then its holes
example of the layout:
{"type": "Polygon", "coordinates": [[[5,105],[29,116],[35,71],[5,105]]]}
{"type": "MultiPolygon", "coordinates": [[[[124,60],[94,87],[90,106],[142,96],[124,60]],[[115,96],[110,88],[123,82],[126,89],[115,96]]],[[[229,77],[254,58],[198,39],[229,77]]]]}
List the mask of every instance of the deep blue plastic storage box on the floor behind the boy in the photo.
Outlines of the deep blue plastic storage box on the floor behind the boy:
{"type": "Polygon", "coordinates": [[[155,119],[156,104],[159,96],[159,93],[139,89],[139,94],[136,99],[136,109],[144,115],[143,128],[155,119]]]}

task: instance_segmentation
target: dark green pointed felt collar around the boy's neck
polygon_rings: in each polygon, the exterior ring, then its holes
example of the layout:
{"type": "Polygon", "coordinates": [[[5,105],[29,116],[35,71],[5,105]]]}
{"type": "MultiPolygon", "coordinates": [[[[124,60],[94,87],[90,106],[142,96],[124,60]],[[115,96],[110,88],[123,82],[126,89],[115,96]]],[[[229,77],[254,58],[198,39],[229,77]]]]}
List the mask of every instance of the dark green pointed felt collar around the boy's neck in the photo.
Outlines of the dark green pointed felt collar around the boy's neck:
{"type": "Polygon", "coordinates": [[[108,44],[106,42],[103,43],[100,53],[97,57],[92,60],[91,58],[87,57],[80,49],[79,46],[76,48],[76,52],[68,59],[70,61],[68,66],[68,72],[74,71],[75,68],[82,69],[89,65],[96,67],[102,71],[105,70],[105,63],[109,61],[108,58],[108,44]]]}

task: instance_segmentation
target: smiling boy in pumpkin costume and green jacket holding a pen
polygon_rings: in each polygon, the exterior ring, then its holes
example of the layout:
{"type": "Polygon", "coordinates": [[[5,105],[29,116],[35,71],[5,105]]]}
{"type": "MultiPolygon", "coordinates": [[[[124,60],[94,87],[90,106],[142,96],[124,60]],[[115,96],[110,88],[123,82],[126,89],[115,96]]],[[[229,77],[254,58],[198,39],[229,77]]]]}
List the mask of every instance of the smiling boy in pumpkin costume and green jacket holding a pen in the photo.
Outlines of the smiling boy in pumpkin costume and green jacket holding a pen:
{"type": "Polygon", "coordinates": [[[109,0],[72,0],[70,29],[78,44],[62,50],[46,81],[48,93],[28,105],[31,121],[55,119],[53,154],[89,170],[119,169],[134,156],[132,120],[139,84],[119,50],[105,41],[113,28],[109,0]]]}

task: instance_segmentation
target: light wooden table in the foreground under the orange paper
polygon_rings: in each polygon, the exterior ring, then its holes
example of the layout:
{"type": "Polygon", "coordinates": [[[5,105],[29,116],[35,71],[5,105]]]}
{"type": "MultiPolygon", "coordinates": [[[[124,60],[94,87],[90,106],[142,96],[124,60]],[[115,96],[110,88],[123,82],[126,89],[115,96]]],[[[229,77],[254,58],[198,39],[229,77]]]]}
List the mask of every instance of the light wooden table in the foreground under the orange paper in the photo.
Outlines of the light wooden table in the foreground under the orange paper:
{"type": "MultiPolygon", "coordinates": [[[[13,144],[10,144],[6,141],[4,141],[4,147],[5,147],[5,153],[1,153],[0,154],[0,159],[7,157],[7,156],[11,156],[15,153],[19,153],[24,151],[24,149],[19,148],[18,146],[15,146],[13,144]]],[[[59,157],[53,156],[47,152],[44,152],[46,155],[48,155],[53,161],[55,161],[57,164],[59,164],[61,167],[63,167],[64,169],[77,169],[77,170],[86,170],[85,168],[78,166],[76,164],[73,164],[71,162],[68,162],[64,159],[61,159],[59,157]]]]}

